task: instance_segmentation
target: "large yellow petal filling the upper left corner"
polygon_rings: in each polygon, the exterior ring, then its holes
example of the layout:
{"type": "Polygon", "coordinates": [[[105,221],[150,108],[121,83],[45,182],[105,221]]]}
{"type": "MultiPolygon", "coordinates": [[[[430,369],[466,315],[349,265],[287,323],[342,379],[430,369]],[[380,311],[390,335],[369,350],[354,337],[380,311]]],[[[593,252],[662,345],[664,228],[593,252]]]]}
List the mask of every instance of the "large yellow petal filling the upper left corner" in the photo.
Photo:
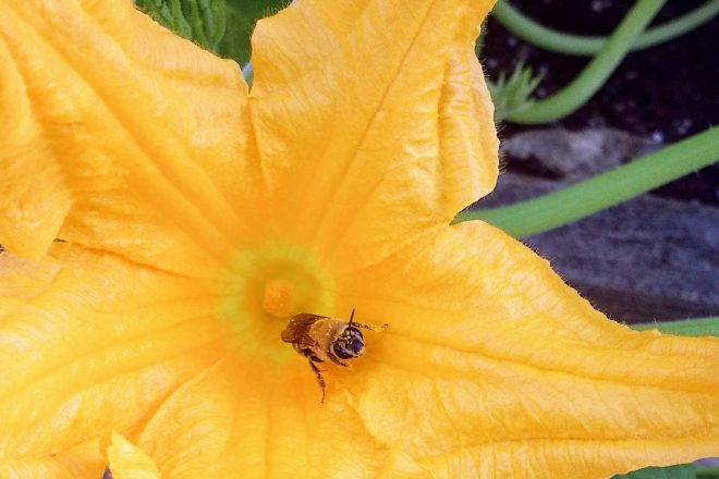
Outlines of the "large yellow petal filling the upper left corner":
{"type": "Polygon", "coordinates": [[[124,0],[1,0],[0,61],[7,249],[38,258],[60,236],[202,274],[252,228],[234,62],[124,0]]]}

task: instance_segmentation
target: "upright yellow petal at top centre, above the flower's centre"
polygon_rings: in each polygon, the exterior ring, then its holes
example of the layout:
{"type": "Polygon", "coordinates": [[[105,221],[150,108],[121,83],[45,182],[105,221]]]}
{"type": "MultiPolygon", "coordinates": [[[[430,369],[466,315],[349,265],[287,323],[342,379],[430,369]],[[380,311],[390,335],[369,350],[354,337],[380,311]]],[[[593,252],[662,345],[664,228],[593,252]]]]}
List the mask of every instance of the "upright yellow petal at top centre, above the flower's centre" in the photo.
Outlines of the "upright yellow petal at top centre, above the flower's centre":
{"type": "Polygon", "coordinates": [[[278,224],[377,261],[493,187],[473,48],[491,4],[303,0],[258,23],[249,101],[278,224]]]}

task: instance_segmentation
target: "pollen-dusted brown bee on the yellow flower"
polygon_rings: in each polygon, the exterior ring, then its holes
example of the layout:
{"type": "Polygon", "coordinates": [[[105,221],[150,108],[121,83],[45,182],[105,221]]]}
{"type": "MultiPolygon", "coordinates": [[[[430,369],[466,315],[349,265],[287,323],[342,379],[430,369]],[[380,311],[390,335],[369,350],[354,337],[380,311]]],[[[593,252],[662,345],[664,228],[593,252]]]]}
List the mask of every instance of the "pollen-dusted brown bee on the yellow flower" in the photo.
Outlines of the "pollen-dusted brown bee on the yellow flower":
{"type": "Polygon", "coordinates": [[[325,403],[325,378],[317,364],[329,361],[346,367],[343,359],[354,359],[365,354],[365,340],[360,328],[376,331],[387,328],[387,324],[376,328],[354,322],[353,309],[350,321],[301,312],[293,316],[282,331],[282,341],[291,343],[297,353],[305,356],[317,376],[322,391],[321,403],[325,403]]]}

